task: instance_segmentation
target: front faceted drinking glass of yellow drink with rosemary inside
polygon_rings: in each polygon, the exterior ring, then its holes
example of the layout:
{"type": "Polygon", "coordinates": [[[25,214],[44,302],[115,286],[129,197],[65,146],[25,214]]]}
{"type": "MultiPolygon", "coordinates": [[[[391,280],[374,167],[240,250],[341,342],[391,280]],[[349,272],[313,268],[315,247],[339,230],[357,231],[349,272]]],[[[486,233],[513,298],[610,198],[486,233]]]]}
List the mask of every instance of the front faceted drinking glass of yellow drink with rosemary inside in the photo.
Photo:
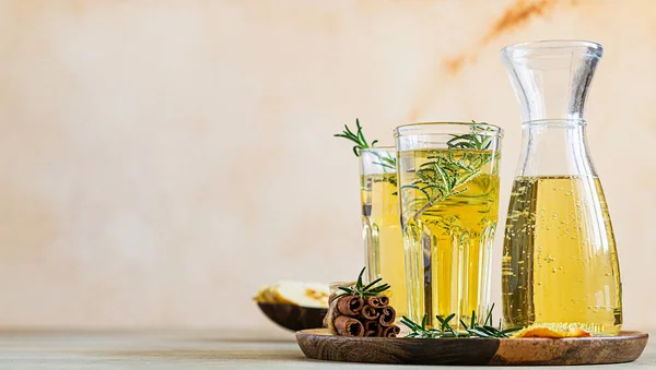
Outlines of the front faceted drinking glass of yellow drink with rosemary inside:
{"type": "Polygon", "coordinates": [[[395,136],[409,317],[435,327],[455,313],[459,326],[489,310],[502,130],[414,123],[395,136]]]}

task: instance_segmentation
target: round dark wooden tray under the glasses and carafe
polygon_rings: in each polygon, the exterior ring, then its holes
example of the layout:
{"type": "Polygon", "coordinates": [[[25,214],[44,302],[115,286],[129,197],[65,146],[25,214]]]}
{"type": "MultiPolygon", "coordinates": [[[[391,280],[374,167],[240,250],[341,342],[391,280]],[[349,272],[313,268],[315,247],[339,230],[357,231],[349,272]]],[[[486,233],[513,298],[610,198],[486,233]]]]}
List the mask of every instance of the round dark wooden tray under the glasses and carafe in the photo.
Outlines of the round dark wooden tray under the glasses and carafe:
{"type": "Polygon", "coordinates": [[[640,357],[648,335],[586,338],[372,338],[331,335],[326,329],[296,332],[308,358],[328,361],[406,365],[593,365],[640,357]]]}

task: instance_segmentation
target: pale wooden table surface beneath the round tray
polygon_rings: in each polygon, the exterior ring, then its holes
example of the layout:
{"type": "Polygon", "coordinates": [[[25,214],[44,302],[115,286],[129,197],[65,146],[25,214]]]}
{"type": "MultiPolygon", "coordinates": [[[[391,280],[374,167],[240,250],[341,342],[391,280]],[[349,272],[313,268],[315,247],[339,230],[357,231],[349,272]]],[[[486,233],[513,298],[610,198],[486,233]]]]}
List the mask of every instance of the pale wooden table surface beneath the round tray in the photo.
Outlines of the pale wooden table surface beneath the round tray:
{"type": "MultiPolygon", "coordinates": [[[[654,332],[653,332],[654,333],[654,332]]],[[[464,369],[403,367],[306,359],[291,334],[221,331],[149,332],[0,332],[0,369],[464,369]]],[[[491,367],[487,367],[490,369],[491,367]]],[[[557,367],[539,367],[546,370],[557,367]]],[[[631,363],[583,366],[582,369],[656,369],[652,337],[631,363]]],[[[506,368],[512,370],[525,367],[506,368]]]]}

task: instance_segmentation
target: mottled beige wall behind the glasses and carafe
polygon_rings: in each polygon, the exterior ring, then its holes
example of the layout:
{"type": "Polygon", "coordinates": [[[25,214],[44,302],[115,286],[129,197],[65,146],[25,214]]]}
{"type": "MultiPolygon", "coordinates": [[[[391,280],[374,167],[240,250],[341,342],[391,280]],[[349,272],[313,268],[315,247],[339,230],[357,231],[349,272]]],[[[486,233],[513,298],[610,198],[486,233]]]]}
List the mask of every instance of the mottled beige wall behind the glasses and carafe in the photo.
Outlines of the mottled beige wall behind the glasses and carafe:
{"type": "Polygon", "coordinates": [[[503,216],[520,127],[497,52],[548,38],[606,48],[588,139],[625,326],[656,327],[651,0],[1,0],[0,326],[279,331],[260,284],[363,264],[332,138],[355,117],[388,144],[412,121],[503,127],[503,216]]]}

